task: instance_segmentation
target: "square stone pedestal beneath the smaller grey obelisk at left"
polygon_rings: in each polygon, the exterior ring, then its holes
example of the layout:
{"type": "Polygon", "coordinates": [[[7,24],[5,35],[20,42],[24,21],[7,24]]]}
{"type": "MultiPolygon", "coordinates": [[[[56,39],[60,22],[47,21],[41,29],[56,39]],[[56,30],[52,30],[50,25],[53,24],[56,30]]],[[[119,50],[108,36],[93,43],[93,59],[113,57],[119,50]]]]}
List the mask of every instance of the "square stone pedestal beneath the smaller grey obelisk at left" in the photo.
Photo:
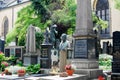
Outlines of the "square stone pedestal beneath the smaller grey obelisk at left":
{"type": "Polygon", "coordinates": [[[37,64],[38,63],[38,55],[29,55],[25,54],[24,55],[24,66],[28,66],[31,64],[37,64]]]}

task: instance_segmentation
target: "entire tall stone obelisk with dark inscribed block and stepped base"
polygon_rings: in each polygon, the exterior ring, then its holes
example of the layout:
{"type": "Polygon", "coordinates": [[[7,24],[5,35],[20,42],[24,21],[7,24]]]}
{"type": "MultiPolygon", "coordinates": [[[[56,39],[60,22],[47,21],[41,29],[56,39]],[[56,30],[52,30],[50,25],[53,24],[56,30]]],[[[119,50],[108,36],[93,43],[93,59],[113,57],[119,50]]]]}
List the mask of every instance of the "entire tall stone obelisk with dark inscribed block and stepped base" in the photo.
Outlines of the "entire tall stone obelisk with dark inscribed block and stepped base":
{"type": "Polygon", "coordinates": [[[96,57],[95,34],[93,33],[91,0],[77,0],[76,29],[74,33],[75,73],[85,74],[88,79],[102,75],[96,57]]]}

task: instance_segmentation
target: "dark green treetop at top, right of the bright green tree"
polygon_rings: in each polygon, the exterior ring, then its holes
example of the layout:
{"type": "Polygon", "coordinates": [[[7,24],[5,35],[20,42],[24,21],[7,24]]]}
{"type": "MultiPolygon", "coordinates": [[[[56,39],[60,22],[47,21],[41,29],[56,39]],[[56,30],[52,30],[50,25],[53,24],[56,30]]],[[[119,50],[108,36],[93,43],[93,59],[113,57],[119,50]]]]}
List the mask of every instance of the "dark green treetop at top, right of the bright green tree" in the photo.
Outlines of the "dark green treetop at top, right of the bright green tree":
{"type": "MultiPolygon", "coordinates": [[[[52,14],[53,6],[56,6],[56,3],[60,3],[60,0],[31,0],[32,6],[35,10],[35,13],[41,17],[41,22],[45,23],[46,20],[50,19],[50,16],[52,14]]],[[[59,4],[57,4],[59,5],[59,4]]]]}

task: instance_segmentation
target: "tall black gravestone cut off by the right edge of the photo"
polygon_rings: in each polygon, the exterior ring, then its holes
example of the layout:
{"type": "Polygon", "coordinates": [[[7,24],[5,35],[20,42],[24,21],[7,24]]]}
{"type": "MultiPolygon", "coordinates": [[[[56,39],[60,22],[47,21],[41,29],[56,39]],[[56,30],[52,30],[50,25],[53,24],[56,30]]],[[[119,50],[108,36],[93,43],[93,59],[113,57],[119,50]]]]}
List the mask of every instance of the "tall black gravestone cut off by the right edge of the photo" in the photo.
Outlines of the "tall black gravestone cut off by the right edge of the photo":
{"type": "Polygon", "coordinates": [[[111,80],[120,80],[120,32],[113,32],[113,61],[111,80]]]}

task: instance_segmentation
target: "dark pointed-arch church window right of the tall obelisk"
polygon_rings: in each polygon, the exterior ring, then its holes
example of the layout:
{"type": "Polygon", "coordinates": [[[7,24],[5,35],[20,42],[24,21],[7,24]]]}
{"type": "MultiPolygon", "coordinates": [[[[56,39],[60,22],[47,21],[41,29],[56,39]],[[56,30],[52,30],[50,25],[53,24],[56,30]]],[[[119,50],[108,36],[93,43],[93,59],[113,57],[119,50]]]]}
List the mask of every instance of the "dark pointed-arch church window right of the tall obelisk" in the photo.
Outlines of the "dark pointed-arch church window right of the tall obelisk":
{"type": "MultiPolygon", "coordinates": [[[[108,0],[98,0],[96,5],[96,15],[103,20],[108,21],[109,24],[109,3],[108,0]]],[[[101,30],[102,38],[110,37],[110,26],[108,28],[101,30]]]]}

